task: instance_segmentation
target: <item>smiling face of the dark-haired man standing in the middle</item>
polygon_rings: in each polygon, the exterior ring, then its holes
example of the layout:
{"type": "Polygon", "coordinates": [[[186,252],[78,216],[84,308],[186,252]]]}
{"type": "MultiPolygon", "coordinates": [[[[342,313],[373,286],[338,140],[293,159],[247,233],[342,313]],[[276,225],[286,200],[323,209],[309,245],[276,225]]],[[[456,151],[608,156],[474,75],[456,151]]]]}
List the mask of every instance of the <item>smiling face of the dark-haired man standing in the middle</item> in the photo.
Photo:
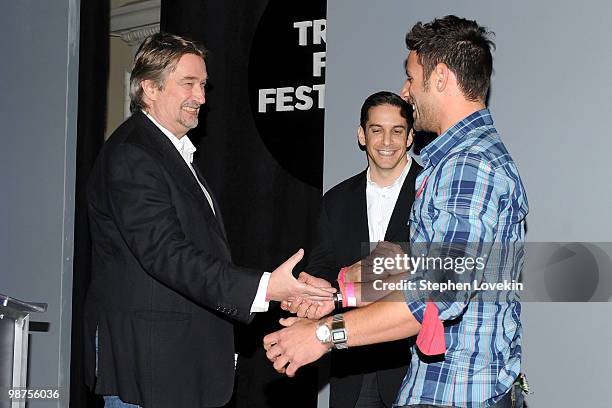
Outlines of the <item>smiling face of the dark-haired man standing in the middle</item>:
{"type": "Polygon", "coordinates": [[[368,111],[365,129],[358,130],[359,144],[365,147],[370,177],[379,185],[392,184],[408,162],[406,151],[412,144],[412,132],[393,105],[373,106],[368,111]]]}

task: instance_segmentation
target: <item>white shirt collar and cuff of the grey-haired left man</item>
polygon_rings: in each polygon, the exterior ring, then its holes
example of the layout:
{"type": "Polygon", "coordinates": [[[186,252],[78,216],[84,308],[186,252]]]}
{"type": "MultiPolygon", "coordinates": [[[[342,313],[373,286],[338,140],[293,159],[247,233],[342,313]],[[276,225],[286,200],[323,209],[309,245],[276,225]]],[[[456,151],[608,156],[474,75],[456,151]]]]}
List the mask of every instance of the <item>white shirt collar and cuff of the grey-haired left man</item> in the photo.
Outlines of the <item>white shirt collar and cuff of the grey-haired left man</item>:
{"type": "MultiPolygon", "coordinates": [[[[191,174],[193,174],[193,177],[195,177],[196,181],[200,185],[200,188],[202,189],[202,192],[206,196],[206,200],[208,201],[208,204],[210,205],[210,208],[213,214],[215,214],[216,216],[217,213],[215,212],[215,206],[213,205],[212,197],[210,196],[210,193],[206,190],[206,188],[204,188],[204,186],[198,179],[198,176],[196,175],[195,170],[193,169],[193,165],[192,165],[193,154],[196,151],[196,147],[193,145],[189,137],[187,137],[187,135],[184,135],[183,137],[179,139],[168,129],[160,125],[153,118],[153,116],[149,115],[145,111],[143,112],[151,120],[151,122],[153,122],[155,126],[157,126],[159,130],[161,130],[163,134],[166,135],[168,139],[170,139],[174,147],[176,147],[176,150],[178,150],[178,152],[181,154],[181,157],[183,158],[183,160],[185,160],[187,167],[189,167],[189,170],[191,170],[191,174]]],[[[255,294],[255,299],[253,300],[253,304],[251,305],[251,313],[268,311],[270,302],[266,301],[266,292],[268,290],[269,281],[270,281],[270,272],[264,272],[263,275],[261,276],[261,279],[259,280],[259,286],[257,286],[257,293],[255,294]]]]}

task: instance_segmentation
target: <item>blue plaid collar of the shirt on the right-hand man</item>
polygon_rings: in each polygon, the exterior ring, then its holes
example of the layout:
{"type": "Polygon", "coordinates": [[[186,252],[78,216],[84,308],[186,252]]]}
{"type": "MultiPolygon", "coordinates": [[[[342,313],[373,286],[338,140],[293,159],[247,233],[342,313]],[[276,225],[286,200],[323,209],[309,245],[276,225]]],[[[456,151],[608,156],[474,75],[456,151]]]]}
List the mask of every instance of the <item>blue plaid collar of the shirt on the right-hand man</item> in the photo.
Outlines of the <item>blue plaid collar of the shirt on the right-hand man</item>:
{"type": "Polygon", "coordinates": [[[486,108],[476,111],[455,123],[446,132],[421,149],[423,167],[427,167],[429,164],[437,165],[473,129],[492,124],[491,112],[486,108]]]}

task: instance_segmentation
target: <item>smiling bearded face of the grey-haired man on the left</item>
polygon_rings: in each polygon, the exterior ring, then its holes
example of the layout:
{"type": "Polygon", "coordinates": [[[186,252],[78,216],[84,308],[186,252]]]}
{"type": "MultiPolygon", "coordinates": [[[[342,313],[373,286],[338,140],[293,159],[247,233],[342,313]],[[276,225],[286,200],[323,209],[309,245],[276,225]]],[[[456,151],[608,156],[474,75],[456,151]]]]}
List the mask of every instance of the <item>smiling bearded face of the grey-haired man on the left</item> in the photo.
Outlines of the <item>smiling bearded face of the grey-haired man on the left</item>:
{"type": "Polygon", "coordinates": [[[201,57],[185,54],[177,62],[161,89],[143,81],[148,113],[179,139],[198,126],[200,105],[206,101],[206,65],[201,57]]]}

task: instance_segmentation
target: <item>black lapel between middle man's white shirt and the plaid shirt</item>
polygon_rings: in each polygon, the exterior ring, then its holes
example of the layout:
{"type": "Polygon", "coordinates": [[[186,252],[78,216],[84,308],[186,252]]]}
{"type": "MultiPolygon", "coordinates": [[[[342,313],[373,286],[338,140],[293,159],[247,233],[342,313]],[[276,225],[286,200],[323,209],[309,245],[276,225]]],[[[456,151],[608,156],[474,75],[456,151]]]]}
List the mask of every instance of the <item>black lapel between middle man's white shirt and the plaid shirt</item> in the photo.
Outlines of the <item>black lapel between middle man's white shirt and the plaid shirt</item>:
{"type": "Polygon", "coordinates": [[[410,226],[408,225],[408,221],[410,220],[410,209],[412,208],[412,203],[414,201],[416,178],[421,170],[421,166],[419,166],[417,162],[412,159],[410,170],[408,170],[404,184],[402,184],[395,207],[393,208],[393,214],[391,214],[391,219],[389,220],[389,225],[387,226],[385,241],[410,241],[410,226]]]}

